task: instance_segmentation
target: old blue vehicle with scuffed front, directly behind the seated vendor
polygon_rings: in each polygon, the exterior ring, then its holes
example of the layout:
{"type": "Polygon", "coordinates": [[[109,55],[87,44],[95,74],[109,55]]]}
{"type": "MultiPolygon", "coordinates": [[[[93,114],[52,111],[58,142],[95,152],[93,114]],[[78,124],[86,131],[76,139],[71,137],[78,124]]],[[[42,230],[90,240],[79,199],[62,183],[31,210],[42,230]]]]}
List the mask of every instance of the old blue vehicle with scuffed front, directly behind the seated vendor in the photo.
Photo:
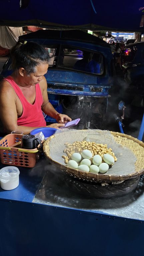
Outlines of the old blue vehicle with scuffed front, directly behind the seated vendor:
{"type": "MultiPolygon", "coordinates": [[[[72,119],[81,118],[79,129],[102,128],[115,74],[110,45],[80,30],[39,30],[20,36],[19,41],[22,40],[37,42],[48,49],[49,68],[45,77],[54,108],[72,119]]],[[[11,72],[9,58],[1,75],[5,77],[11,72]]],[[[45,118],[48,123],[55,122],[45,118]]]]}

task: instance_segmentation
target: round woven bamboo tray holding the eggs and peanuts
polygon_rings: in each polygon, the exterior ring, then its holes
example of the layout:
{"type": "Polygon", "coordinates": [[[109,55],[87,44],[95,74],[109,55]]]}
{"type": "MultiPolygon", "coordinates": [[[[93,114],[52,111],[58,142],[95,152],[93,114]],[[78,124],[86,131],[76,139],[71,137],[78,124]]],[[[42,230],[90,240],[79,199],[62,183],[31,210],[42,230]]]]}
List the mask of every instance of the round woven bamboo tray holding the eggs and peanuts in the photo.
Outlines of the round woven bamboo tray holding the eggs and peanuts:
{"type": "Polygon", "coordinates": [[[55,137],[55,135],[50,136],[43,144],[43,151],[45,156],[52,162],[52,164],[62,171],[67,172],[73,177],[92,181],[92,182],[107,182],[110,183],[112,181],[124,181],[132,178],[136,178],[144,173],[144,143],[130,135],[119,133],[119,132],[111,132],[114,140],[121,144],[124,147],[130,149],[133,154],[136,156],[137,160],[135,163],[135,172],[127,175],[107,175],[107,174],[94,174],[87,173],[79,170],[75,170],[67,167],[66,165],[60,164],[54,161],[50,156],[50,148],[49,143],[55,137]]]}

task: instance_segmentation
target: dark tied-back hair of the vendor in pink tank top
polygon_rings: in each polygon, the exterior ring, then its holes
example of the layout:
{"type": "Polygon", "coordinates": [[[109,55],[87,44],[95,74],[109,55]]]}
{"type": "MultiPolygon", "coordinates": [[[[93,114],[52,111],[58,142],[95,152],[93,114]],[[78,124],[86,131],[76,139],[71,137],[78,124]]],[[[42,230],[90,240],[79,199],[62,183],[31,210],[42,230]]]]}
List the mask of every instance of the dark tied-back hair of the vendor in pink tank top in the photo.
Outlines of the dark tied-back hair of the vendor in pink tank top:
{"type": "Polygon", "coordinates": [[[18,42],[11,49],[12,68],[24,68],[29,76],[36,72],[36,66],[48,63],[49,53],[42,46],[34,42],[18,42]]]}

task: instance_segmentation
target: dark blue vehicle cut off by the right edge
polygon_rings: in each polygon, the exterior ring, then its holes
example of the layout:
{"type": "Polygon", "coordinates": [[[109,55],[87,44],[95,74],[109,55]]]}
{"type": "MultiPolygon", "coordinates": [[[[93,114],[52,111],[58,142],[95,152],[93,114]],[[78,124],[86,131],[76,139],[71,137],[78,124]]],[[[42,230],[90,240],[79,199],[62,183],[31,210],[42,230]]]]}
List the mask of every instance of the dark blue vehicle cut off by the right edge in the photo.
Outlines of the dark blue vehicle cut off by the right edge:
{"type": "Polygon", "coordinates": [[[129,103],[136,107],[144,107],[144,42],[129,44],[127,55],[122,65],[129,103]]]}

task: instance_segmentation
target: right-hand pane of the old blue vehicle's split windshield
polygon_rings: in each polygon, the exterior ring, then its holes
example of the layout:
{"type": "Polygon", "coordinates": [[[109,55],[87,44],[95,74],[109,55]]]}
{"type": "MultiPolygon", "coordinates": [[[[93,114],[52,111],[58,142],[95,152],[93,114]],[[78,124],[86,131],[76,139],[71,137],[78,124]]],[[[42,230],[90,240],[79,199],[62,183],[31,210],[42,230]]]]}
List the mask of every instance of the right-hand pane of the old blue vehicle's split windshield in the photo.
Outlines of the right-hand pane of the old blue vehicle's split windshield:
{"type": "Polygon", "coordinates": [[[58,67],[102,74],[103,56],[97,52],[62,47],[59,53],[58,67]]]}

